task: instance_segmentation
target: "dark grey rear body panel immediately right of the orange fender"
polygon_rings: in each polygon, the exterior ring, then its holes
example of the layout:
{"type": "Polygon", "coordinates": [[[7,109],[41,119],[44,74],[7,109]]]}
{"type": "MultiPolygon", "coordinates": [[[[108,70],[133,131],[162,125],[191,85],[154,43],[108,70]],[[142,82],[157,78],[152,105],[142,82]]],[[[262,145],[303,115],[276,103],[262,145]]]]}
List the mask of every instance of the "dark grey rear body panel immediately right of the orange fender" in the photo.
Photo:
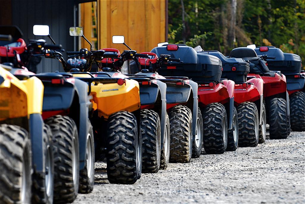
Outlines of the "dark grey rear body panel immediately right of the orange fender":
{"type": "Polygon", "coordinates": [[[141,105],[154,104],[160,91],[159,85],[156,83],[151,83],[151,85],[139,84],[139,86],[141,105]]]}

